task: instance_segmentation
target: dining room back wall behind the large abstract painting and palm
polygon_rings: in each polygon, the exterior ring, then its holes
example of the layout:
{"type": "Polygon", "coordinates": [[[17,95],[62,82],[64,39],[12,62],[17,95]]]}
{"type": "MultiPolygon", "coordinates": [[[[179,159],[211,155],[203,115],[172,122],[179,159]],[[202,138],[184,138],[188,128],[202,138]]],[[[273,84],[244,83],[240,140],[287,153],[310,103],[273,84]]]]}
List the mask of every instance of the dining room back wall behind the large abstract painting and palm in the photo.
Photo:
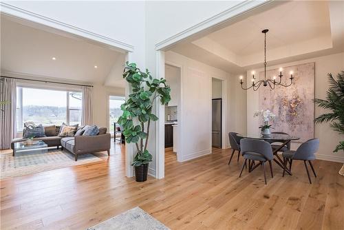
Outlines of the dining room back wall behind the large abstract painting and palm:
{"type": "MultiPolygon", "coordinates": [[[[319,56],[314,59],[306,59],[303,61],[296,61],[292,63],[283,63],[278,66],[271,66],[268,69],[275,69],[279,66],[290,66],[290,65],[299,65],[302,63],[315,63],[315,88],[314,94],[316,98],[323,98],[325,99],[326,91],[329,87],[329,83],[327,81],[327,73],[332,73],[332,75],[336,76],[338,72],[344,70],[344,53],[339,54],[332,54],[328,56],[319,56]]],[[[261,70],[256,70],[259,72],[261,70]]],[[[250,79],[250,71],[248,71],[248,79],[250,79]]],[[[259,121],[258,119],[253,118],[253,113],[259,109],[258,105],[258,97],[257,92],[253,92],[252,90],[247,91],[247,133],[248,134],[255,134],[259,132],[259,121]]],[[[325,113],[324,109],[320,109],[319,107],[314,107],[314,118],[319,116],[320,114],[325,113]]],[[[344,154],[343,152],[339,153],[332,153],[332,150],[337,145],[337,143],[343,140],[343,136],[340,136],[336,132],[330,129],[330,125],[322,124],[322,125],[315,125],[314,126],[314,137],[320,139],[320,147],[319,151],[316,154],[317,158],[323,160],[334,160],[338,162],[344,162],[344,154]]],[[[293,145],[292,145],[293,147],[293,145]]],[[[294,148],[297,145],[294,145],[294,148]]]]}

